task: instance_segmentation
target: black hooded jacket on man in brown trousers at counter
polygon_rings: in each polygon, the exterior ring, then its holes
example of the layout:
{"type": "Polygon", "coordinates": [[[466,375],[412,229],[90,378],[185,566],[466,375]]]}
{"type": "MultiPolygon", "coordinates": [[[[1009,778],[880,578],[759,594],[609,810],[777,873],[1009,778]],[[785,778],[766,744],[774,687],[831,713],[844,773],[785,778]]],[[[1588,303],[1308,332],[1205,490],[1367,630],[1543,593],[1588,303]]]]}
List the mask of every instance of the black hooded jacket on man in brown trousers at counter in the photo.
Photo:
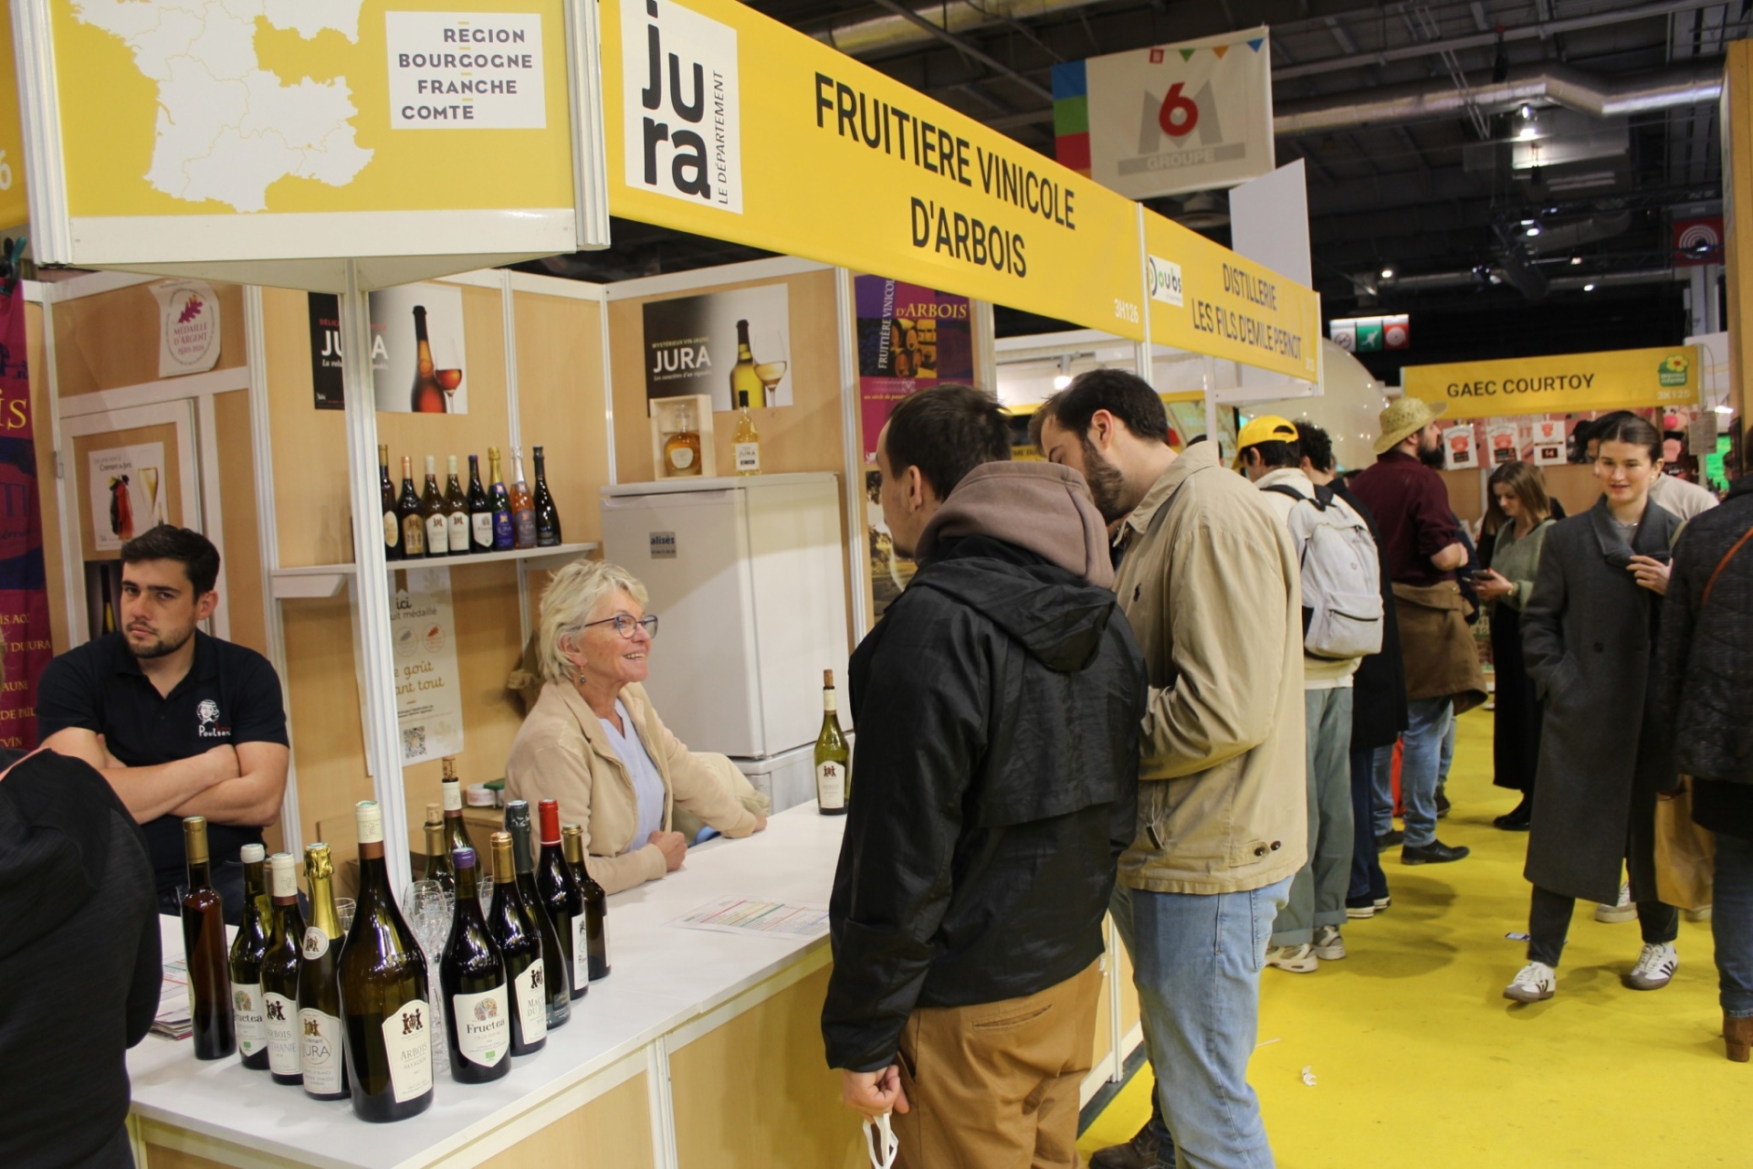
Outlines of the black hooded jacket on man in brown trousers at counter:
{"type": "Polygon", "coordinates": [[[987,535],[940,542],[850,668],[831,1067],[917,1006],[1045,990],[1103,952],[1132,840],[1145,661],[1113,592],[987,535]]]}

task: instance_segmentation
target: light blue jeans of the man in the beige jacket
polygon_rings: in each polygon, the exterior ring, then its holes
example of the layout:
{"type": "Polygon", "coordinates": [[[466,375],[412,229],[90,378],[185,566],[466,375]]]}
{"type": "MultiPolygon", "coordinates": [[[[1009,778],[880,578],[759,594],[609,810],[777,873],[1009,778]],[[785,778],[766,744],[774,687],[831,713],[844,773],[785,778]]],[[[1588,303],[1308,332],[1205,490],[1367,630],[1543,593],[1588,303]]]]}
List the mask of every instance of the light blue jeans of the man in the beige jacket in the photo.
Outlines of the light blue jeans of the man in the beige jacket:
{"type": "MultiPolygon", "coordinates": [[[[1138,987],[1157,1102],[1183,1169],[1271,1169],[1248,1059],[1260,967],[1290,878],[1234,894],[1115,885],[1113,918],[1138,987]]],[[[1167,1160],[1159,1153],[1159,1160],[1167,1160]]]]}

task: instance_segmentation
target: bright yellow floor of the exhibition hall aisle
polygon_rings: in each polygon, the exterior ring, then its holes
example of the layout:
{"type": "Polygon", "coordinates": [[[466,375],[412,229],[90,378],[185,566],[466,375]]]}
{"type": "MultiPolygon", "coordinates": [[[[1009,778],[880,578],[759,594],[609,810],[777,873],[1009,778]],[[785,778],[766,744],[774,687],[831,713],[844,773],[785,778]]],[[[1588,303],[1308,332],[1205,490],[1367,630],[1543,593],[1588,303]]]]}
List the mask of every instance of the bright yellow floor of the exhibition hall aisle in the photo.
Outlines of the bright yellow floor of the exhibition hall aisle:
{"type": "MultiPolygon", "coordinates": [[[[1501,997],[1523,964],[1527,836],[1492,817],[1492,717],[1460,720],[1441,822],[1458,864],[1402,868],[1383,854],[1394,908],[1350,922],[1350,957],[1313,974],[1267,967],[1250,1080],[1285,1169],[1394,1165],[1748,1165],[1753,1066],[1723,1057],[1711,927],[1681,920],[1679,971],[1664,990],[1620,983],[1637,924],[1579,906],[1558,994],[1501,997]],[[1302,1069],[1315,1085],[1302,1081],[1302,1069]]],[[[1090,1125],[1085,1155],[1150,1113],[1139,1071],[1090,1125]]]]}

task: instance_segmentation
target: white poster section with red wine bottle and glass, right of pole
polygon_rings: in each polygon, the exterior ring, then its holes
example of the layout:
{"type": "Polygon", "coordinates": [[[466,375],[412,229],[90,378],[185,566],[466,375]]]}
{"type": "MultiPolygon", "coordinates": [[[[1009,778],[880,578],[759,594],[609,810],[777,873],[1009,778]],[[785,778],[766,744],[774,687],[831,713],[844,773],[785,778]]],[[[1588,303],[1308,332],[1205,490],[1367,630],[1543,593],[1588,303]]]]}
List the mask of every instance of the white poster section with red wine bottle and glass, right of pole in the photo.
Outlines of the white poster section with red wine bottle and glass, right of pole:
{"type": "Polygon", "coordinates": [[[377,408],[468,414],[463,289],[403,284],[372,293],[372,386],[377,408]]]}

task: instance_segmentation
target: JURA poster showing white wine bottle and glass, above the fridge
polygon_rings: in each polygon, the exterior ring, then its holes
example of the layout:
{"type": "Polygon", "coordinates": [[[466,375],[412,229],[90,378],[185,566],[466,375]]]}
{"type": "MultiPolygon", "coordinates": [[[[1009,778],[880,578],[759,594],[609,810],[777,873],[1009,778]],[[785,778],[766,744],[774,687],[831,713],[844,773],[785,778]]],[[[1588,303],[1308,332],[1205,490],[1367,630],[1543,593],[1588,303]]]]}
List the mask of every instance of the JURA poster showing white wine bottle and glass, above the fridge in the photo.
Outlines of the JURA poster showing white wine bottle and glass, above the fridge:
{"type": "Polygon", "coordinates": [[[645,398],[738,393],[752,410],[791,405],[791,289],[742,287],[645,303],[645,398]]]}

